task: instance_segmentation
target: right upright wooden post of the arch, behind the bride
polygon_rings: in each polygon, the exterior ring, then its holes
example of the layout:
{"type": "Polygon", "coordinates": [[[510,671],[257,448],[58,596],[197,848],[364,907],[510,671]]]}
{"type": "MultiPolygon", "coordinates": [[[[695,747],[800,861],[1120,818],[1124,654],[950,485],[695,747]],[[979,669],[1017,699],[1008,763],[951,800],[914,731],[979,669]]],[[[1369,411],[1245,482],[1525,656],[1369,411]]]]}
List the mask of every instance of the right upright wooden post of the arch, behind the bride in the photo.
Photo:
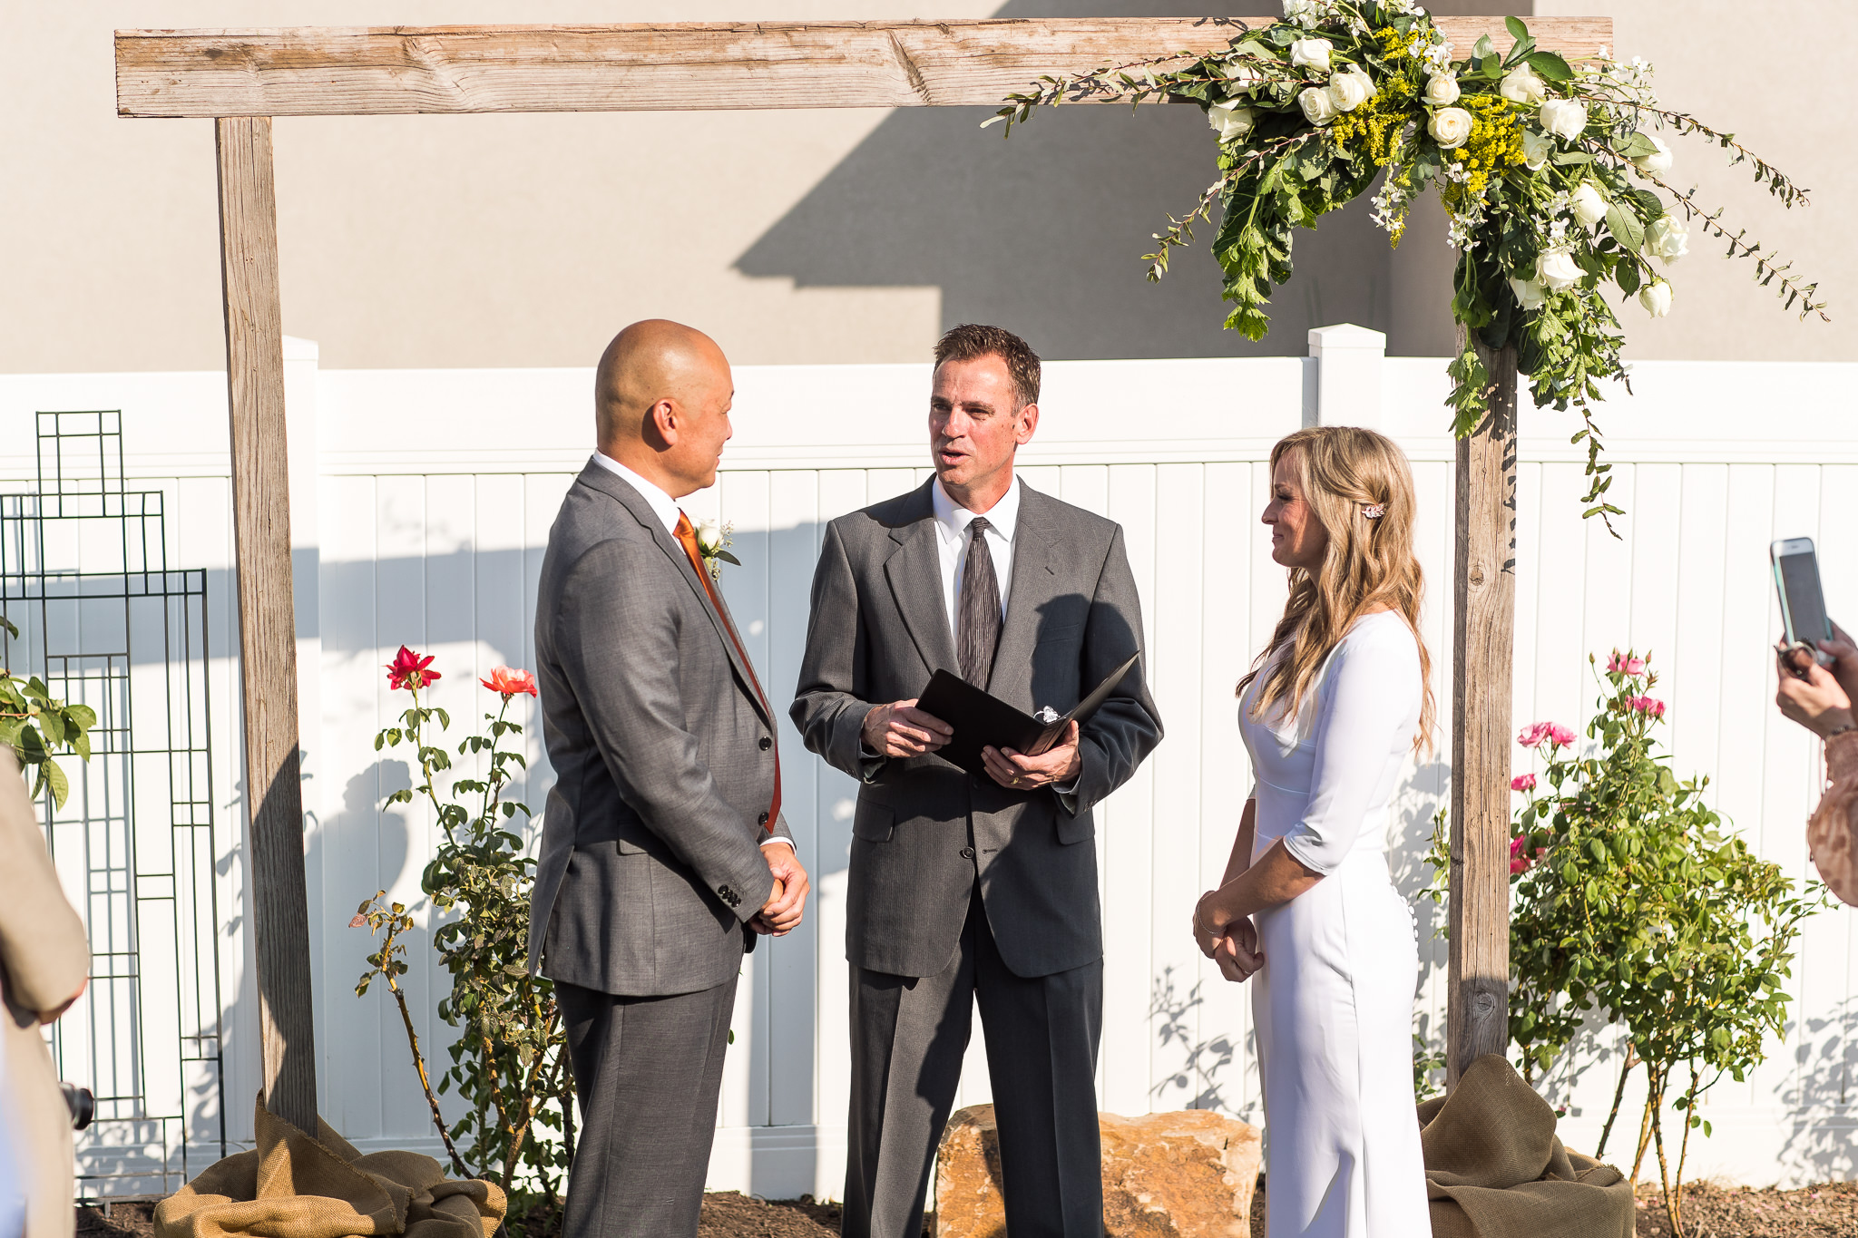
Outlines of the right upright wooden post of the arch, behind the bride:
{"type": "MultiPolygon", "coordinates": [[[[1459,327],[1460,345],[1464,327],[1459,327]]],[[[1516,349],[1477,353],[1490,410],[1459,440],[1451,614],[1451,950],[1446,1086],[1509,1049],[1511,683],[1516,633],[1516,349]]]]}

